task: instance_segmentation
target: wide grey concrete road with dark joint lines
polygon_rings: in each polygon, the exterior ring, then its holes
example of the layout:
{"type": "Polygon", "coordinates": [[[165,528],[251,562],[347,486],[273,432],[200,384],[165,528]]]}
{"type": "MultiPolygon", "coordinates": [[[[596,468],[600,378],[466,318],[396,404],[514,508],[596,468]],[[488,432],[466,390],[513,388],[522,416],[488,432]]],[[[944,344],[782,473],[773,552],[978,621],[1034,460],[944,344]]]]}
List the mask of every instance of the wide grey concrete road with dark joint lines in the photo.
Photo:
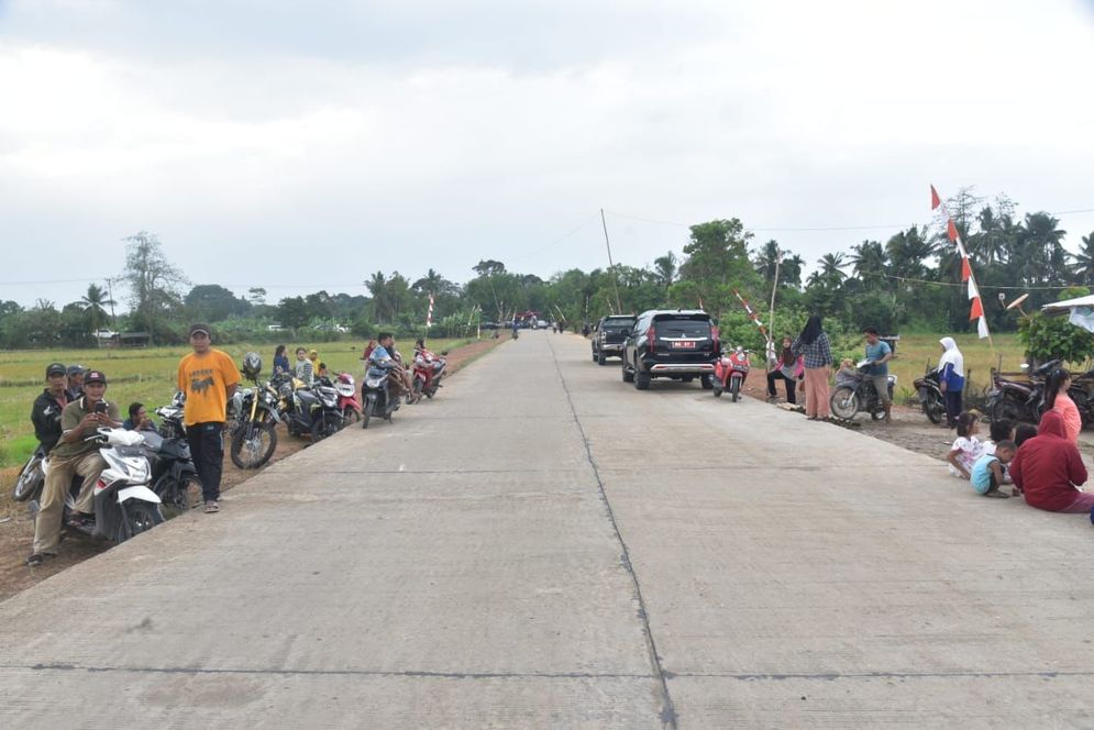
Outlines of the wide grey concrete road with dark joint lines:
{"type": "Polygon", "coordinates": [[[1090,728],[1092,538],[527,333],[0,604],[0,728],[1090,728]]]}

